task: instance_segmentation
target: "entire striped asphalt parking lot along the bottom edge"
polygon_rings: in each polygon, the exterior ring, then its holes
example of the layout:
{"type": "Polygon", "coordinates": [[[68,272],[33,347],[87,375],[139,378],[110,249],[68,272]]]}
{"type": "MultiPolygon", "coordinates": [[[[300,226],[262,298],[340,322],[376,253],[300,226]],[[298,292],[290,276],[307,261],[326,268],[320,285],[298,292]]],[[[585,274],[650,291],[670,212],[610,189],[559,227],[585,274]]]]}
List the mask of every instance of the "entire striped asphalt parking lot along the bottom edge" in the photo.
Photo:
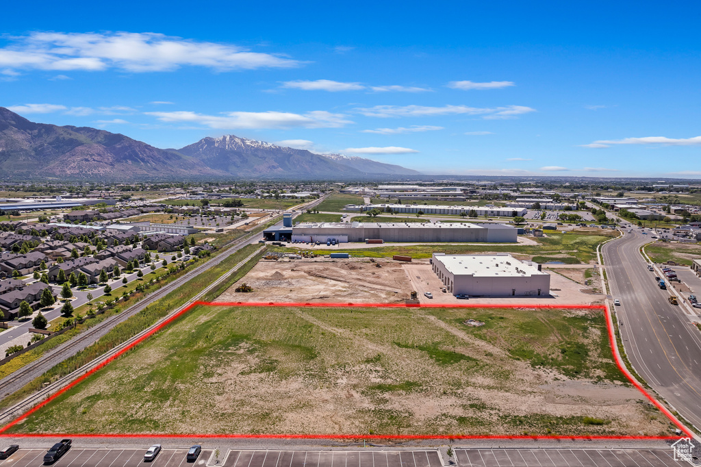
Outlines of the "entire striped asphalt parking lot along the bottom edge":
{"type": "MultiPolygon", "coordinates": [[[[435,450],[230,450],[219,463],[212,449],[203,449],[197,461],[185,460],[187,449],[163,449],[156,460],[144,462],[146,449],[73,448],[57,467],[226,466],[226,467],[442,467],[435,450]]],[[[0,466],[41,466],[44,449],[20,449],[0,466]]],[[[671,449],[456,449],[459,467],[663,467],[679,466],[671,449]]]]}

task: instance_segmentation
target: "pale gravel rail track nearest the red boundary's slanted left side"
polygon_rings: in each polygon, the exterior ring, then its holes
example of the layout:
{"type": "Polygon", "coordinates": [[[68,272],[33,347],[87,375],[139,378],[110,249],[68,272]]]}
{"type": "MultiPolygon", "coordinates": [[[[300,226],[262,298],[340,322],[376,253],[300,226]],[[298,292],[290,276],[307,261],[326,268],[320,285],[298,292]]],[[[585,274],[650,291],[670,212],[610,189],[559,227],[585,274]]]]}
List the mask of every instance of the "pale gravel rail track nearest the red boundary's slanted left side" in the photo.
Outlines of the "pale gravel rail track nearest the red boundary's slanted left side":
{"type": "MultiPolygon", "coordinates": [[[[172,316],[174,316],[175,314],[179,313],[180,311],[182,311],[183,309],[185,309],[187,306],[189,306],[189,305],[192,304],[193,302],[197,302],[198,299],[200,299],[203,295],[205,295],[207,292],[209,292],[209,291],[212,290],[213,288],[217,287],[217,285],[219,285],[219,284],[222,283],[224,280],[226,280],[226,278],[229,277],[229,274],[230,274],[230,273],[232,273],[233,271],[236,271],[236,270],[239,269],[241,266],[243,266],[244,264],[246,264],[248,261],[250,261],[250,259],[252,259],[252,258],[253,258],[255,255],[257,255],[259,252],[260,252],[260,249],[257,249],[257,250],[254,251],[251,255],[248,255],[247,257],[245,257],[245,259],[243,259],[241,262],[239,262],[238,264],[236,264],[236,266],[233,266],[233,268],[231,268],[229,271],[226,271],[226,273],[222,274],[222,276],[219,277],[217,280],[215,280],[214,282],[212,282],[210,285],[207,285],[207,287],[205,287],[203,290],[201,290],[195,297],[192,297],[191,299],[188,300],[188,302],[186,302],[186,303],[183,304],[182,306],[179,306],[179,307],[178,307],[177,309],[175,309],[174,311],[171,311],[170,313],[168,313],[167,316],[164,316],[163,318],[161,318],[160,320],[158,320],[156,323],[154,323],[153,325],[149,326],[147,329],[143,330],[142,332],[139,332],[138,334],[136,334],[135,336],[131,337],[131,338],[128,339],[127,341],[124,341],[123,343],[119,344],[118,346],[116,346],[116,347],[114,347],[114,348],[111,348],[109,351],[107,351],[106,353],[103,353],[100,357],[95,358],[95,360],[92,360],[90,363],[86,363],[86,365],[83,365],[83,366],[80,367],[78,370],[75,370],[75,371],[73,371],[73,372],[71,372],[71,373],[65,375],[64,377],[61,377],[60,379],[57,379],[57,380],[54,381],[53,383],[48,384],[47,386],[41,388],[40,391],[37,391],[36,393],[34,393],[34,394],[32,394],[32,395],[29,395],[29,397],[27,397],[27,398],[25,398],[24,400],[18,402],[17,404],[13,405],[12,407],[8,407],[7,409],[3,410],[2,412],[0,412],[0,423],[1,423],[1,424],[6,424],[6,423],[12,421],[13,419],[16,419],[16,418],[19,417],[21,414],[24,414],[25,412],[27,412],[27,410],[30,410],[30,409],[31,409],[32,407],[34,407],[35,405],[39,404],[39,402],[41,402],[42,400],[46,399],[46,398],[48,397],[48,395],[50,395],[50,394],[52,394],[52,393],[55,393],[56,391],[59,391],[61,388],[63,388],[63,387],[66,386],[67,384],[69,384],[69,383],[70,383],[71,381],[73,381],[74,379],[81,377],[83,374],[86,374],[86,372],[92,370],[92,369],[93,369],[94,367],[96,367],[97,365],[100,365],[100,363],[102,363],[104,360],[110,358],[111,356],[116,355],[117,353],[119,353],[120,351],[122,351],[123,348],[129,346],[129,345],[132,344],[134,341],[137,341],[138,339],[141,339],[145,334],[148,334],[149,332],[151,332],[152,330],[154,330],[154,328],[156,328],[156,327],[158,327],[159,325],[161,325],[161,323],[163,323],[165,320],[170,319],[172,316]]],[[[226,256],[229,256],[229,255],[222,255],[222,256],[223,256],[223,257],[226,257],[226,256]]],[[[204,266],[204,264],[203,264],[203,266],[204,266]]],[[[197,271],[196,269],[193,269],[192,272],[194,273],[194,272],[196,272],[196,271],[197,271]]],[[[154,295],[155,295],[155,294],[154,294],[154,295]]],[[[139,302],[139,304],[140,304],[140,303],[142,303],[142,302],[139,302]]],[[[134,306],[132,306],[132,307],[130,307],[130,308],[134,308],[134,306]]],[[[140,311],[140,310],[132,311],[131,314],[130,314],[129,316],[132,316],[133,314],[137,313],[138,311],[140,311]]],[[[122,316],[122,314],[123,314],[123,313],[120,313],[119,315],[116,315],[116,316],[122,316]]],[[[123,316],[123,319],[122,319],[121,321],[123,321],[123,320],[129,318],[129,316],[123,316]]],[[[121,321],[120,321],[120,322],[121,322],[121,321]]],[[[115,325],[116,325],[116,324],[118,324],[118,323],[115,323],[115,325]]],[[[100,327],[100,329],[101,329],[101,330],[102,330],[102,329],[105,329],[105,327],[100,327]]],[[[106,333],[107,331],[108,331],[108,330],[105,330],[104,332],[106,333]]],[[[87,334],[87,333],[83,333],[83,334],[87,334]]],[[[83,335],[83,334],[80,334],[80,335],[83,335]]],[[[104,334],[104,333],[103,333],[103,334],[104,334]]],[[[77,343],[76,343],[76,344],[77,344],[77,343]]],[[[91,343],[91,344],[92,344],[92,343],[91,343]]],[[[89,345],[89,344],[88,344],[88,345],[89,345]]],[[[67,348],[69,348],[69,347],[67,346],[67,348]]],[[[75,347],[73,347],[73,348],[75,348],[75,347]]],[[[67,358],[67,357],[63,357],[62,360],[65,360],[65,358],[67,358]]],[[[48,364],[48,363],[47,363],[47,364],[48,364]]],[[[54,364],[51,363],[50,365],[53,366],[54,364]]],[[[36,371],[36,369],[35,369],[35,371],[36,371]]],[[[25,372],[25,376],[26,376],[28,373],[29,373],[29,372],[25,372]]],[[[33,377],[32,377],[32,379],[33,379],[33,377]]]]}

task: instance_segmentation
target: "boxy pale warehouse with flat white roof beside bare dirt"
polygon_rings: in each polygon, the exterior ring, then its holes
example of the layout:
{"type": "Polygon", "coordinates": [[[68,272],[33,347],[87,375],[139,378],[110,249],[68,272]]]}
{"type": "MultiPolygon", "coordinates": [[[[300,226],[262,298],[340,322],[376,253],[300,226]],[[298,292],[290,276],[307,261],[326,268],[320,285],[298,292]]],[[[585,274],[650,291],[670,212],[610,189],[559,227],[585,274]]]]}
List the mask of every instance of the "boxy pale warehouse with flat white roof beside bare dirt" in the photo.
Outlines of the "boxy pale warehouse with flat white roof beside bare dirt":
{"type": "Polygon", "coordinates": [[[550,295],[550,274],[511,255],[433,253],[433,272],[453,295],[538,297],[550,295]]]}

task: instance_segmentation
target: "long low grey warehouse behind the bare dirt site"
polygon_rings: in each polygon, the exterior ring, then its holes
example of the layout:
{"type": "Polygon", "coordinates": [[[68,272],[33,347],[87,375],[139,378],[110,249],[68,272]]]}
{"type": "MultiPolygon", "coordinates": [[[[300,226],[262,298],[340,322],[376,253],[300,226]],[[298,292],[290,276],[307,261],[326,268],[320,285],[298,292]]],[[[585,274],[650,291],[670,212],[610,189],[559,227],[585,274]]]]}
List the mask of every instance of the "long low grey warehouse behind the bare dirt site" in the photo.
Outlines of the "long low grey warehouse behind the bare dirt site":
{"type": "Polygon", "coordinates": [[[504,224],[468,222],[322,222],[273,227],[264,231],[266,240],[326,243],[365,242],[495,242],[516,243],[517,229],[504,224]]]}

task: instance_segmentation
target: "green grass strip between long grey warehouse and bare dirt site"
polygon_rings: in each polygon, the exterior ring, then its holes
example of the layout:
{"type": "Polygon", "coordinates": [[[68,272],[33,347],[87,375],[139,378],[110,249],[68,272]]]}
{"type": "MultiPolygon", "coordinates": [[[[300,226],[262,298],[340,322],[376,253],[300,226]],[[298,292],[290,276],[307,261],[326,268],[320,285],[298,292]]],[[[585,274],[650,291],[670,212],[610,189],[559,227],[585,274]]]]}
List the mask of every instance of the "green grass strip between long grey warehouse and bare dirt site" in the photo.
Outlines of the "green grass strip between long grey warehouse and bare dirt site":
{"type": "MultiPolygon", "coordinates": [[[[379,217],[378,217],[379,218],[379,217]]],[[[377,218],[376,218],[377,219],[377,218]]],[[[371,221],[372,222],[372,221],[371,221]]],[[[567,234],[547,234],[547,238],[533,238],[539,245],[516,245],[514,243],[470,243],[447,244],[428,243],[426,245],[398,244],[378,248],[339,248],[334,252],[352,253],[354,257],[390,258],[393,255],[409,255],[416,259],[430,258],[433,252],[445,252],[448,255],[480,254],[489,252],[508,252],[516,257],[529,259],[536,257],[538,262],[564,262],[565,264],[590,263],[597,257],[597,245],[616,235],[614,231],[597,231],[596,235],[577,231],[567,234]]],[[[276,251],[296,252],[294,248],[275,248],[276,251]]],[[[319,255],[327,250],[315,250],[319,255]]]]}

